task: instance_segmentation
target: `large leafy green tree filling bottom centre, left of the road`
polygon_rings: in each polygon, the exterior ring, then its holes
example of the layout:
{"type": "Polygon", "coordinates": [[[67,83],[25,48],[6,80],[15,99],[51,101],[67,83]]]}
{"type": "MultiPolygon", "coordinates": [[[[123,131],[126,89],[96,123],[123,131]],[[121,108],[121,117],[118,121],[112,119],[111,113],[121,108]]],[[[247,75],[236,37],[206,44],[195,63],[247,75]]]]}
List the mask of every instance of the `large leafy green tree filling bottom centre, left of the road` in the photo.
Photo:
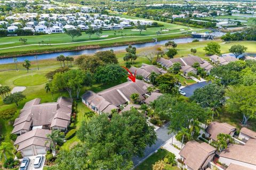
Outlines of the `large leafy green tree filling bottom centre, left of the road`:
{"type": "Polygon", "coordinates": [[[77,131],[82,141],[69,151],[62,150],[50,169],[131,169],[133,156],[142,156],[156,140],[152,126],[132,109],[122,115],[94,116],[77,131]]]}

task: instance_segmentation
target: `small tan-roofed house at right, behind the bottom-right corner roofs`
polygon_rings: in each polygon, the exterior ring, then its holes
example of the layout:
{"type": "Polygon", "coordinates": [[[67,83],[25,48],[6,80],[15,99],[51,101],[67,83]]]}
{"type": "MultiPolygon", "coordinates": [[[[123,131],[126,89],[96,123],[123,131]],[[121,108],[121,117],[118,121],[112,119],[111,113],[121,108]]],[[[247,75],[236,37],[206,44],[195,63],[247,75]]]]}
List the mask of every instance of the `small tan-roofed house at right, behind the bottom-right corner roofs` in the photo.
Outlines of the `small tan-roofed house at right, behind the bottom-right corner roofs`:
{"type": "Polygon", "coordinates": [[[228,123],[211,122],[206,128],[206,136],[211,140],[217,141],[217,136],[220,133],[229,134],[231,137],[234,136],[236,127],[228,123]]]}

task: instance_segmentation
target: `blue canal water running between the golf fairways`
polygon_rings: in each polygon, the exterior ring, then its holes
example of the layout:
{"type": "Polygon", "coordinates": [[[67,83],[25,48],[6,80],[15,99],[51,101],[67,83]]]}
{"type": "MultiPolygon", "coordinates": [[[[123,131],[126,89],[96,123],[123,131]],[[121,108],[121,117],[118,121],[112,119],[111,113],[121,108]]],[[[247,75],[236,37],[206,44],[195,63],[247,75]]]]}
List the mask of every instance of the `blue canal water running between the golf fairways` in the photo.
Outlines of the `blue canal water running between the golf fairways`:
{"type": "MultiPolygon", "coordinates": [[[[216,37],[220,37],[220,36],[224,35],[225,33],[213,32],[211,34],[216,37]]],[[[194,39],[198,39],[199,41],[209,40],[209,39],[205,39],[205,38],[190,38],[190,37],[189,38],[177,38],[177,39],[172,39],[172,40],[177,44],[181,44],[181,43],[191,43],[194,39]]],[[[134,44],[133,46],[136,48],[151,47],[151,46],[155,46],[155,45],[164,45],[165,43],[167,43],[167,41],[169,41],[169,40],[157,41],[155,43],[134,44]]],[[[37,56],[38,56],[38,60],[45,60],[45,59],[49,59],[49,58],[56,58],[57,56],[59,56],[61,54],[64,56],[94,54],[96,52],[110,50],[110,49],[113,49],[114,51],[124,50],[126,47],[127,47],[127,45],[115,46],[115,47],[102,47],[102,48],[76,50],[76,51],[70,51],[70,52],[55,52],[55,53],[48,53],[48,54],[39,54],[37,56]]],[[[13,63],[13,58],[14,57],[1,58],[0,64],[13,63]]],[[[20,57],[16,57],[16,58],[17,58],[18,62],[23,62],[24,60],[29,60],[29,61],[36,60],[34,55],[26,55],[26,56],[20,56],[20,57]]]]}

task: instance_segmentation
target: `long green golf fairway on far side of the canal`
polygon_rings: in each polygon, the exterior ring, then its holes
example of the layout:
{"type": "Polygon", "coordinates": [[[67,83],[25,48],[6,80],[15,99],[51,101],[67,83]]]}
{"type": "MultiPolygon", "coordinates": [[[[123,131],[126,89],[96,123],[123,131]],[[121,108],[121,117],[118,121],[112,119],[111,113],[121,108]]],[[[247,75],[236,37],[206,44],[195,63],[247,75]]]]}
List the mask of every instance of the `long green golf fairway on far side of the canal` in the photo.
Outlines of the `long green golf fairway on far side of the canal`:
{"type": "MultiPolygon", "coordinates": [[[[140,18],[136,18],[140,19],[140,18]]],[[[123,30],[108,30],[103,31],[101,36],[108,36],[105,38],[97,37],[97,35],[92,35],[91,39],[89,39],[89,36],[86,35],[84,32],[82,33],[82,36],[75,38],[74,41],[66,35],[66,33],[61,34],[51,34],[51,35],[38,35],[38,36],[21,36],[21,37],[3,37],[0,39],[0,48],[6,48],[6,47],[16,47],[17,48],[10,48],[10,49],[1,49],[0,56],[11,56],[11,55],[19,55],[19,54],[28,54],[28,53],[36,53],[36,52],[45,52],[52,51],[52,50],[70,50],[70,49],[77,49],[79,46],[87,46],[91,48],[94,47],[100,47],[100,46],[115,46],[117,43],[119,45],[121,44],[127,44],[127,42],[130,43],[143,43],[146,41],[151,41],[152,38],[157,39],[169,39],[169,38],[177,38],[181,36],[186,36],[187,31],[190,32],[192,30],[197,30],[197,28],[187,28],[183,25],[177,25],[167,22],[159,22],[160,24],[163,24],[164,27],[153,27],[153,28],[147,28],[146,31],[142,31],[141,34],[139,31],[134,31],[134,29],[123,29],[123,30]],[[167,29],[169,31],[162,31],[161,29],[167,29]],[[181,30],[182,29],[182,30],[181,30]],[[156,36],[156,32],[160,31],[161,34],[171,33],[169,35],[159,35],[156,36]],[[135,36],[135,37],[134,37],[135,36]],[[123,37],[123,38],[118,38],[123,37]],[[27,44],[26,45],[33,45],[33,46],[24,46],[19,42],[20,38],[26,38],[27,44]],[[117,38],[117,39],[111,39],[111,38],[117,38]],[[97,40],[90,42],[89,40],[97,40]],[[99,41],[103,40],[103,41],[99,41]],[[38,44],[38,42],[44,41],[44,45],[38,44]],[[81,41],[88,41],[88,42],[82,42],[81,41]],[[5,44],[7,43],[7,44],[5,44]],[[59,44],[59,43],[72,43],[72,44],[61,44],[61,45],[53,45],[53,44],[59,44]]],[[[199,30],[198,30],[199,31],[199,30]]],[[[205,30],[200,30],[205,31],[205,30]]]]}

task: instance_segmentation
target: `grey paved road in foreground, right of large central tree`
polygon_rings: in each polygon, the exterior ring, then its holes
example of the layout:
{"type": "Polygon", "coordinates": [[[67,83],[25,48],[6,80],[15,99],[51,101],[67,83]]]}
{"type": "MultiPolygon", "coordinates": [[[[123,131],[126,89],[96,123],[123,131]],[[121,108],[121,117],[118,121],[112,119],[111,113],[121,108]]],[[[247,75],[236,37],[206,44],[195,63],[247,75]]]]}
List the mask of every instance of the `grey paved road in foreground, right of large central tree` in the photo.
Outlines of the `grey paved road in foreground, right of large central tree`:
{"type": "Polygon", "coordinates": [[[140,157],[134,157],[132,158],[133,161],[133,165],[134,166],[138,166],[140,163],[143,162],[143,160],[145,160],[148,156],[150,156],[151,154],[153,154],[157,149],[159,149],[160,147],[162,147],[165,142],[169,139],[172,138],[172,134],[168,134],[168,125],[169,123],[165,124],[164,126],[162,126],[161,128],[156,130],[156,134],[157,134],[157,141],[156,143],[151,146],[151,147],[147,147],[144,151],[144,156],[142,158],[140,157]]]}

